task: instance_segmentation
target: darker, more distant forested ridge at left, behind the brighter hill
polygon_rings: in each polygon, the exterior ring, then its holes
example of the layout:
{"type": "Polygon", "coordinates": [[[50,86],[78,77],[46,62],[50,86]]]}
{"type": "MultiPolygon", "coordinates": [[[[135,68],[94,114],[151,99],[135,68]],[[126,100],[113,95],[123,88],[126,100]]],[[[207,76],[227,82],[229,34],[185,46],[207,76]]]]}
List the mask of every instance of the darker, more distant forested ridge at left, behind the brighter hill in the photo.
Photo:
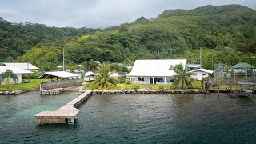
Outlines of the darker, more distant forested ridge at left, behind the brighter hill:
{"type": "Polygon", "coordinates": [[[40,45],[57,46],[72,36],[93,34],[96,29],[86,27],[75,29],[72,27],[58,28],[47,27],[38,23],[11,23],[0,17],[0,61],[8,56],[17,59],[30,50],[40,45]]]}

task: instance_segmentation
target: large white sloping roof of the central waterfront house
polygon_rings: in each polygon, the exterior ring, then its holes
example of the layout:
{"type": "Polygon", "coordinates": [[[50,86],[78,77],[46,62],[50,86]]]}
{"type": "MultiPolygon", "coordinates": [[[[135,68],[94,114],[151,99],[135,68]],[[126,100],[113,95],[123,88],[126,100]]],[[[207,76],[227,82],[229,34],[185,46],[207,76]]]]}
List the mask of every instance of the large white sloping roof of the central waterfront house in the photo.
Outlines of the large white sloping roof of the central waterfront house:
{"type": "Polygon", "coordinates": [[[126,76],[170,77],[176,74],[173,68],[178,64],[185,67],[186,59],[136,60],[133,69],[126,76]]]}

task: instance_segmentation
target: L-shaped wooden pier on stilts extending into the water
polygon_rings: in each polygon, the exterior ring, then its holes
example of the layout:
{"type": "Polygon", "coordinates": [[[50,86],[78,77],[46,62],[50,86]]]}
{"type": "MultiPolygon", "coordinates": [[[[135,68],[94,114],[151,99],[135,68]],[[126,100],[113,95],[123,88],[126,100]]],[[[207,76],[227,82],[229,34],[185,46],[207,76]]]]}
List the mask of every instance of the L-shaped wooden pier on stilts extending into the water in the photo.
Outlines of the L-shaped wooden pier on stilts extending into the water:
{"type": "Polygon", "coordinates": [[[86,90],[86,92],[79,95],[78,98],[74,98],[74,100],[68,102],[65,106],[62,106],[56,111],[42,111],[36,114],[34,116],[36,122],[38,124],[67,122],[69,125],[73,125],[74,119],[77,119],[77,115],[80,111],[75,107],[90,98],[91,94],[92,90],[86,90]]]}

